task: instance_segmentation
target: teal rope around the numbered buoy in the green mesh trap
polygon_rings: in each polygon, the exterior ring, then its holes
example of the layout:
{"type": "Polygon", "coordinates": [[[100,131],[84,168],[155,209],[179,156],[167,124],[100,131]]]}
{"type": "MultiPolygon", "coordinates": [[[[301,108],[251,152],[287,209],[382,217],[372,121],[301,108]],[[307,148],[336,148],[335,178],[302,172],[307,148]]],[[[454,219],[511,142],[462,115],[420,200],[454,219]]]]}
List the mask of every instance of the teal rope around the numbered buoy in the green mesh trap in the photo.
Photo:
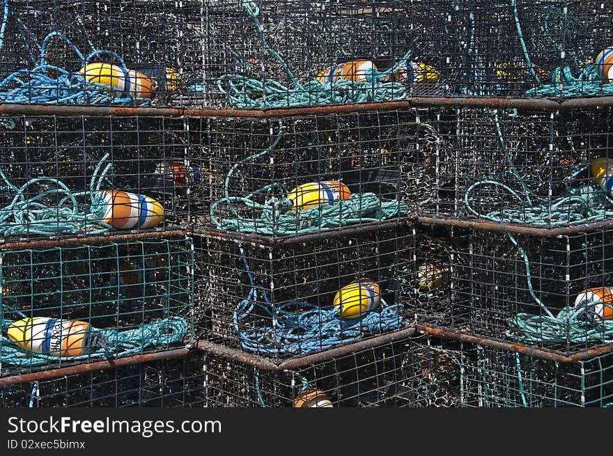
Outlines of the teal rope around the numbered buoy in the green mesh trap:
{"type": "MultiPolygon", "coordinates": [[[[9,313],[15,313],[21,318],[27,316],[3,304],[3,308],[8,309],[9,313]]],[[[2,330],[6,331],[11,320],[2,318],[2,330]]],[[[136,329],[127,331],[117,331],[116,329],[96,329],[92,328],[92,334],[100,342],[100,347],[96,347],[89,354],[80,356],[49,356],[41,353],[34,353],[18,347],[8,338],[2,338],[0,343],[0,362],[10,365],[41,365],[59,359],[69,361],[83,361],[92,358],[118,358],[129,354],[142,352],[147,347],[157,347],[178,343],[187,333],[187,321],[182,317],[161,318],[152,323],[139,325],[136,329]]]]}

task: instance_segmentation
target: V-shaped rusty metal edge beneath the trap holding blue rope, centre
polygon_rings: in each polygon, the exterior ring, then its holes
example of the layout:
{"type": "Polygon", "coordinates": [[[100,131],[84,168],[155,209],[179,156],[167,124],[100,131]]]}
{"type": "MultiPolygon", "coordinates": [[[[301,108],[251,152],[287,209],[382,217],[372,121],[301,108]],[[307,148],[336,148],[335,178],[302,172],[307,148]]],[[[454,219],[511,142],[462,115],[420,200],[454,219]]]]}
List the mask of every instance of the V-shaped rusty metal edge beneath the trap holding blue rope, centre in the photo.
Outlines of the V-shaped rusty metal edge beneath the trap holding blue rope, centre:
{"type": "Polygon", "coordinates": [[[322,363],[338,356],[343,356],[346,354],[359,352],[360,350],[377,347],[385,343],[409,338],[414,333],[415,328],[409,327],[391,333],[385,333],[380,336],[359,340],[358,342],[350,343],[347,345],[341,345],[340,347],[327,349],[323,352],[309,354],[307,356],[300,356],[299,358],[286,359],[279,364],[256,354],[243,352],[240,349],[226,347],[224,345],[208,342],[206,340],[196,340],[196,342],[192,344],[192,347],[206,353],[215,354],[217,356],[232,359],[233,361],[238,361],[239,363],[251,365],[262,370],[293,370],[297,368],[302,368],[307,365],[322,363]]]}

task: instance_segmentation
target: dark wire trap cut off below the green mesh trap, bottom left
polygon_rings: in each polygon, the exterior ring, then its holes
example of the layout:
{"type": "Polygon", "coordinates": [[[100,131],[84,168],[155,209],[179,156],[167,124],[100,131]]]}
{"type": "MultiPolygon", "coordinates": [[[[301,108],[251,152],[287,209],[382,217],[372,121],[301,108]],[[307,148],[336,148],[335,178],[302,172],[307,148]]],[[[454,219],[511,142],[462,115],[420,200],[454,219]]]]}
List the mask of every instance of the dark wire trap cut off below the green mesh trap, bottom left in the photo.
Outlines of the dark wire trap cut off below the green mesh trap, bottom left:
{"type": "Polygon", "coordinates": [[[2,407],[202,407],[202,355],[0,387],[2,407]]]}

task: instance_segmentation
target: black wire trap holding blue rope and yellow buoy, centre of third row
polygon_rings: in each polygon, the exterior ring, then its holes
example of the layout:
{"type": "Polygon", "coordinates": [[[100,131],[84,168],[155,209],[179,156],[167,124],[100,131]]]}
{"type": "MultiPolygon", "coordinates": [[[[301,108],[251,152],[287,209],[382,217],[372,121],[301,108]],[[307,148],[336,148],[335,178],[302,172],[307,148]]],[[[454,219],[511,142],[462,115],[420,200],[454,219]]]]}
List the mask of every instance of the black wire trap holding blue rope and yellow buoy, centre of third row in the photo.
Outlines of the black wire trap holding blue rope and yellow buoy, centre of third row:
{"type": "Polygon", "coordinates": [[[195,238],[198,336],[281,359],[410,324],[404,228],[262,246],[195,238]]]}

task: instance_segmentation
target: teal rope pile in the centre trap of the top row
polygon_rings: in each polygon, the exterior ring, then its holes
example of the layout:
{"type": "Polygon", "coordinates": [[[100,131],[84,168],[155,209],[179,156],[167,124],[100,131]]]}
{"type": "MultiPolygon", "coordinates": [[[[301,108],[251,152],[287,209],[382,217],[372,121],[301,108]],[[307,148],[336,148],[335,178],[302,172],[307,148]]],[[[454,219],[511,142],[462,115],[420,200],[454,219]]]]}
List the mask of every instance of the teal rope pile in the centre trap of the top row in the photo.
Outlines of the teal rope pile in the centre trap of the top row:
{"type": "MultiPolygon", "coordinates": [[[[237,108],[288,108],[307,107],[327,104],[368,103],[405,100],[407,97],[404,84],[385,82],[385,79],[397,72],[408,61],[411,51],[405,53],[394,67],[385,72],[372,69],[366,72],[366,81],[348,81],[341,79],[334,82],[320,82],[313,79],[306,84],[294,76],[284,59],[268,44],[261,22],[260,10],[254,1],[242,0],[260,32],[265,49],[281,63],[284,71],[292,81],[291,86],[281,84],[274,79],[253,79],[245,74],[224,74],[217,79],[219,91],[228,97],[228,101],[237,108]]],[[[202,84],[192,84],[189,90],[202,91],[202,84]]]]}

